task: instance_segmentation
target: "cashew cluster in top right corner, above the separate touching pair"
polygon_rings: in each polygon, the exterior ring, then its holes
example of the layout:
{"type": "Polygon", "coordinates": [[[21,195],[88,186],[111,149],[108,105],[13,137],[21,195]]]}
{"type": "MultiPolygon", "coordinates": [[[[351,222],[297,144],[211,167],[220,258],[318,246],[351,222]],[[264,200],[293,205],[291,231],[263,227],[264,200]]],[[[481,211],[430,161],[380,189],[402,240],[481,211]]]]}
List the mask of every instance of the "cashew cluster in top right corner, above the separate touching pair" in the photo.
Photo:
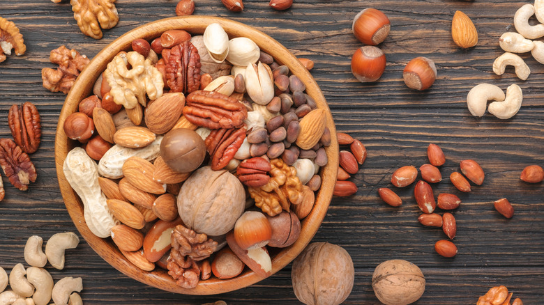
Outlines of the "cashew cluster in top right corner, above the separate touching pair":
{"type": "Polygon", "coordinates": [[[514,26],[517,33],[508,32],[499,38],[499,45],[506,53],[495,59],[493,72],[502,75],[507,65],[513,65],[515,75],[526,80],[531,73],[523,58],[514,53],[531,52],[539,63],[544,64],[544,42],[531,39],[544,37],[544,0],[535,0],[533,4],[525,4],[514,15],[514,26]],[[529,18],[536,15],[540,24],[529,24],[529,18]]]}

